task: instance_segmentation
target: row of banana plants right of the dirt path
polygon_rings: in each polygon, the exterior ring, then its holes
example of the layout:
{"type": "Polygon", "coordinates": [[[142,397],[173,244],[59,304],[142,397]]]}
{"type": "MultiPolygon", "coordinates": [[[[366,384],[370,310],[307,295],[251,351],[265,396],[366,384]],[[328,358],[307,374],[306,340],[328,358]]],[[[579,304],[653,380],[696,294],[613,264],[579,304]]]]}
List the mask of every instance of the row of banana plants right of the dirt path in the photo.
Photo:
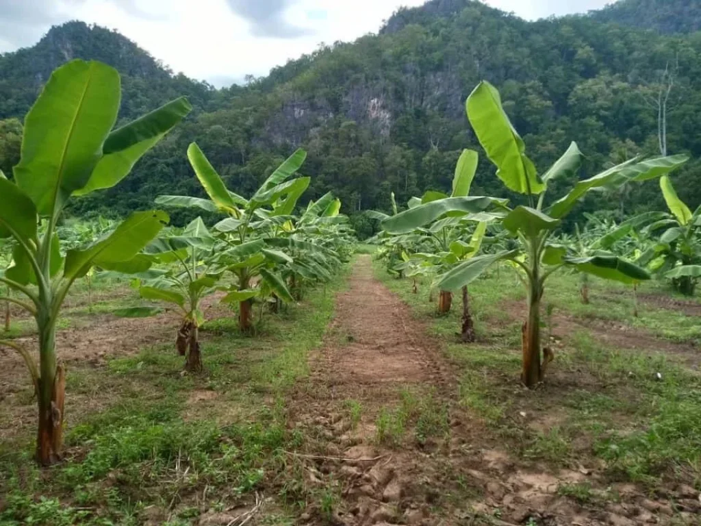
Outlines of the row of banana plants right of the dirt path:
{"type": "MultiPolygon", "coordinates": [[[[630,159],[585,180],[569,193],[548,199],[554,180],[578,173],[583,160],[577,144],[542,176],[526,156],[524,142],[511,125],[498,91],[482,82],[466,102],[470,124],[496,175],[510,191],[520,194],[515,208],[508,201],[470,196],[478,154],[465,150],[458,159],[451,195],[428,191],[411,198],[398,213],[392,196],[392,216],[372,212],[383,231],[376,236],[379,256],[397,276],[430,276],[440,291],[439,313],[451,308],[452,294],[461,291],[462,338],[475,341],[468,285],[489,267],[508,264],[526,288],[527,313],[522,325],[522,382],[528,387],[543,381],[554,358],[541,344],[541,301],[547,279],[559,270],[581,274],[583,302],[589,301],[587,276],[592,274],[633,286],[652,274],[672,280],[675,288],[693,294],[701,276],[701,207],[691,213],[674,191],[669,174],[688,161],[683,155],[630,159]],[[583,230],[559,233],[563,218],[589,192],[659,179],[669,213],[652,212],[620,225],[590,217],[583,230]]],[[[416,292],[416,282],[414,282],[416,292]]],[[[433,290],[432,290],[433,293],[433,290]]]]}

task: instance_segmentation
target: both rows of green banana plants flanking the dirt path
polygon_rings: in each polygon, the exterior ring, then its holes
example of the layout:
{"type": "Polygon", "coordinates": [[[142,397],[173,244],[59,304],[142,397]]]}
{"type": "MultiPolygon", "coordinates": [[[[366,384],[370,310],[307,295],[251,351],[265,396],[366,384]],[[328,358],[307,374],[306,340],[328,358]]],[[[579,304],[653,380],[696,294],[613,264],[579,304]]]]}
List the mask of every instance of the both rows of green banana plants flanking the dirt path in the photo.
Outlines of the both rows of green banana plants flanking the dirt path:
{"type": "MultiPolygon", "coordinates": [[[[161,196],[156,205],[222,215],[217,224],[207,227],[198,218],[184,229],[170,228],[165,212],[150,210],[134,213],[114,228],[102,225],[76,234],[61,222],[68,201],[114,187],[191,109],[181,98],[113,130],[119,104],[120,79],[111,67],[81,60],[60,67],[27,114],[12,180],[0,177],[0,240],[11,246],[8,267],[0,274],[8,292],[0,301],[35,318],[39,362],[16,342],[0,345],[15,349],[27,363],[39,405],[36,457],[43,465],[61,457],[65,372],[57,360],[56,323],[77,279],[89,280],[95,269],[132,275],[144,299],[175,306],[182,314],[176,346],[185,356],[186,370],[197,372],[202,368],[201,304],[207,295],[219,292],[222,302],[238,310],[241,332],[252,332],[254,301],[261,315],[266,304],[274,311],[281,302],[296,301],[306,286],[332,277],[348,260],[354,242],[339,213],[341,203],[330,194],[299,211],[297,203],[309,184],[308,177],[297,175],[304,151],[294,152],[247,198],[226,188],[197,144],[190,145],[188,159],[208,198],[161,196]],[[102,235],[93,241],[96,234],[102,235]]],[[[466,109],[496,175],[522,204],[510,208],[502,198],[470,196],[478,154],[465,150],[451,195],[429,191],[412,198],[401,213],[396,203],[391,216],[373,213],[381,220],[378,240],[385,245],[391,271],[431,276],[442,311],[450,308],[451,292],[462,291],[466,341],[475,338],[467,285],[500,262],[515,269],[528,292],[522,382],[529,387],[543,380],[552,360],[540,342],[540,302],[555,271],[571,269],[635,284],[651,278],[650,269],[655,269],[687,292],[693,287],[701,274],[695,264],[701,212],[690,213],[669,180],[685,156],[632,159],[578,181],[562,197],[547,199],[552,181],[578,173],[583,156],[576,144],[539,176],[493,86],[479,84],[466,109]],[[660,178],[671,214],[648,214],[615,228],[588,228],[576,238],[556,235],[562,218],[590,191],[653,178],[660,178]],[[648,250],[640,249],[642,237],[654,240],[648,250]]],[[[117,314],[158,311],[139,306],[117,314]]]]}

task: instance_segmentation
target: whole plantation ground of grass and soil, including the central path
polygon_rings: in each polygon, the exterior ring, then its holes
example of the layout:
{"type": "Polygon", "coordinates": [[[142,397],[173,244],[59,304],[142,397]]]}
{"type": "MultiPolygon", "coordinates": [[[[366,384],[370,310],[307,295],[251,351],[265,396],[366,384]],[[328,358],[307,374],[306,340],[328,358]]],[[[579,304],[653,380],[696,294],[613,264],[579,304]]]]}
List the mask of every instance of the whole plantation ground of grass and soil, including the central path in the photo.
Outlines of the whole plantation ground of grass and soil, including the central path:
{"type": "Polygon", "coordinates": [[[428,284],[373,251],[255,337],[212,302],[202,375],[182,373],[168,313],[109,315],[138,302],[128,283],[97,281],[92,313],[81,285],[61,321],[62,463],[34,466],[32,389],[0,353],[0,525],[698,523],[697,299],[647,284],[634,316],[621,285],[592,279],[585,305],[577,276],[555,277],[555,360],[529,391],[511,269],[470,287],[468,345],[459,297],[437,316],[428,284]]]}

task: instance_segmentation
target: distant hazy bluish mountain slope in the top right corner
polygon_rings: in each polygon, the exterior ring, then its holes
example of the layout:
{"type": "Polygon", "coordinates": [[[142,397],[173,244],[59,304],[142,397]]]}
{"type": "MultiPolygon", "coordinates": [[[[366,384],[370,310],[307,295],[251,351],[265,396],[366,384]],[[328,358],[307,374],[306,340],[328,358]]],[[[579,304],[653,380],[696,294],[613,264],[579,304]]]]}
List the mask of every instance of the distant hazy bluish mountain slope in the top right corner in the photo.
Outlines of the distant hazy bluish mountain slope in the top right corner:
{"type": "Polygon", "coordinates": [[[693,33],[701,29],[698,0],[622,0],[592,13],[599,22],[654,29],[663,34],[693,33]]]}

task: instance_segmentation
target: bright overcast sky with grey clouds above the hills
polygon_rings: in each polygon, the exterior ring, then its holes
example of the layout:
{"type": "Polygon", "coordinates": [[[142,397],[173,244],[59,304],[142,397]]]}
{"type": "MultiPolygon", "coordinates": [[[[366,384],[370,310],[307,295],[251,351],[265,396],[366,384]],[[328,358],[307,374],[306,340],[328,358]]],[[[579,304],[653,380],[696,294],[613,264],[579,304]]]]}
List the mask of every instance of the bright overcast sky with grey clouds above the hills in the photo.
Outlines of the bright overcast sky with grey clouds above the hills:
{"type": "MultiPolygon", "coordinates": [[[[260,76],[319,43],[376,32],[425,0],[0,0],[0,52],[83,20],[117,29],[175,72],[216,86],[260,76]]],[[[486,0],[522,18],[584,13],[611,0],[486,0]]]]}

